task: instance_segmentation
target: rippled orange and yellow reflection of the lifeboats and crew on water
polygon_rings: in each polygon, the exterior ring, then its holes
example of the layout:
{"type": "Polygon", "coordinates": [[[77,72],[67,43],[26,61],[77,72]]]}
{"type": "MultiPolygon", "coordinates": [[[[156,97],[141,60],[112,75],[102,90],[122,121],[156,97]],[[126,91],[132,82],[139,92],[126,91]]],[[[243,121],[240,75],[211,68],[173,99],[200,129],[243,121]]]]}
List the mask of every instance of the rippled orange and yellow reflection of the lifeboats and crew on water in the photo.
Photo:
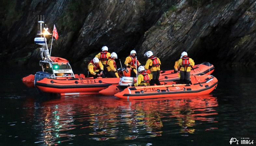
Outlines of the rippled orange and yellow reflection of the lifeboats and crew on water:
{"type": "Polygon", "coordinates": [[[218,114],[214,109],[217,98],[211,95],[132,101],[61,97],[41,106],[44,108],[38,116],[43,130],[38,139],[48,144],[65,143],[73,137],[124,140],[158,137],[170,131],[186,135],[197,130],[198,121],[217,122],[213,115],[218,114]]]}

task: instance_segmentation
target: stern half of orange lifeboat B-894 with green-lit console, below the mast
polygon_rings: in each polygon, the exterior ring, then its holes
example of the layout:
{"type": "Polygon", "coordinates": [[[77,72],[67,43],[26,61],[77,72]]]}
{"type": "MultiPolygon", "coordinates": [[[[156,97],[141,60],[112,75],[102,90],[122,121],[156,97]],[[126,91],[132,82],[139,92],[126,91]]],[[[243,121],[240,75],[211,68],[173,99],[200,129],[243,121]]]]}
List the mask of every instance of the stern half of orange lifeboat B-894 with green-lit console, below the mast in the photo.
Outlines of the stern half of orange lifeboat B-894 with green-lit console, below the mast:
{"type": "Polygon", "coordinates": [[[40,65],[43,71],[22,78],[22,82],[42,92],[60,95],[99,94],[98,91],[119,82],[119,78],[93,79],[74,74],[69,61],[61,57],[50,57],[49,61],[40,61],[40,65]]]}

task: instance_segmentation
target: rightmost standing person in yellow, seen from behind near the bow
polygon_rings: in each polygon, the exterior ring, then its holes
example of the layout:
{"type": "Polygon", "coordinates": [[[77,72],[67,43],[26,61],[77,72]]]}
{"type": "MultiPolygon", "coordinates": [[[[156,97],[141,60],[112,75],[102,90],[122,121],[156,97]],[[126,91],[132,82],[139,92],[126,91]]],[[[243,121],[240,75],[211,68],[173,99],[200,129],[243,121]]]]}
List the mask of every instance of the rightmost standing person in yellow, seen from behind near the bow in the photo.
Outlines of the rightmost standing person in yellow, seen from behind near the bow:
{"type": "Polygon", "coordinates": [[[189,84],[190,82],[190,70],[191,67],[195,65],[195,62],[192,58],[188,57],[187,52],[182,52],[181,54],[182,58],[178,62],[178,66],[181,67],[180,69],[180,74],[181,74],[181,79],[180,83],[181,84],[189,84]]]}

